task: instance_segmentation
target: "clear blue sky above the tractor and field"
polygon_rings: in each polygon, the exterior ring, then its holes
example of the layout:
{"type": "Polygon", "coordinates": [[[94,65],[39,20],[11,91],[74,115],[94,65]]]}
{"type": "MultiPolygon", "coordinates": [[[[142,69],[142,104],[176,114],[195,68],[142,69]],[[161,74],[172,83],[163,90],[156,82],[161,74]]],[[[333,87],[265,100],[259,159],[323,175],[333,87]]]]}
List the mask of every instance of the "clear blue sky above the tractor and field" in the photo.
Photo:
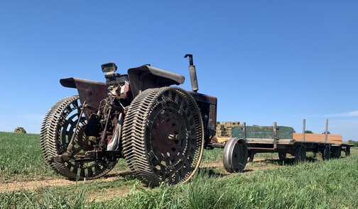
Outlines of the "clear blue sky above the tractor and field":
{"type": "Polygon", "coordinates": [[[39,133],[77,94],[59,79],[104,81],[150,63],[186,77],[217,119],[292,126],[358,140],[358,1],[1,1],[0,131],[39,133]]]}

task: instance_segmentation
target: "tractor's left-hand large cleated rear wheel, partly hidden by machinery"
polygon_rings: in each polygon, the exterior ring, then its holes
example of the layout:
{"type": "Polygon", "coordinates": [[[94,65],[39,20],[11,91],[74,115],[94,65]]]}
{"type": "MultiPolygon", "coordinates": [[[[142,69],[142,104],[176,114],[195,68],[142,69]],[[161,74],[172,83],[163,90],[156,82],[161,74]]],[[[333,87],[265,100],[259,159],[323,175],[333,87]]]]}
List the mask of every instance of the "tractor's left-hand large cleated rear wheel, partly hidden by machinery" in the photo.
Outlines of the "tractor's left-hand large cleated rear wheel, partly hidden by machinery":
{"type": "MultiPolygon", "coordinates": [[[[72,156],[78,152],[92,150],[84,130],[87,120],[80,115],[79,96],[69,96],[55,103],[45,115],[40,132],[40,145],[45,159],[64,154],[72,135],[75,136],[72,156]],[[78,120],[79,126],[76,128],[78,120]]],[[[106,157],[92,160],[70,159],[65,162],[48,162],[58,174],[70,179],[93,179],[107,174],[116,164],[109,162],[106,157]]]]}

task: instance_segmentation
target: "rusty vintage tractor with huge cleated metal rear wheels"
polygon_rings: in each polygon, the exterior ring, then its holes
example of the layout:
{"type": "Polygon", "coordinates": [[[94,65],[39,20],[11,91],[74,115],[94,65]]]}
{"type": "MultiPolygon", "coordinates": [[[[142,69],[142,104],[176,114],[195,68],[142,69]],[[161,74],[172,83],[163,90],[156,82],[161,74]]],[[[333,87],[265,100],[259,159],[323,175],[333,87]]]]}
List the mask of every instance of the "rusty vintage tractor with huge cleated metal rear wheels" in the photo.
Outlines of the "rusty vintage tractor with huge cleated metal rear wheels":
{"type": "Polygon", "coordinates": [[[217,98],[197,93],[192,55],[185,57],[192,91],[172,86],[185,77],[150,65],[118,74],[113,62],[102,64],[106,83],[60,79],[78,96],[55,103],[43,120],[40,144],[52,169],[69,179],[93,179],[124,158],[148,185],[188,181],[215,135],[217,98]]]}

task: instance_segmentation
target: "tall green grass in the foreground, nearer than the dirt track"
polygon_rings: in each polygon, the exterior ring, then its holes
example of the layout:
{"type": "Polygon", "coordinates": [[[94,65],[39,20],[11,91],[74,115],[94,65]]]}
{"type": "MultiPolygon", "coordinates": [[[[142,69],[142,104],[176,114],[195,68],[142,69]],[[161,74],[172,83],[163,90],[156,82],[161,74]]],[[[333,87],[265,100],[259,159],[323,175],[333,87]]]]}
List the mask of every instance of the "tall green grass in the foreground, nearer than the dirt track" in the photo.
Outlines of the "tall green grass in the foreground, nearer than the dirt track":
{"type": "Polygon", "coordinates": [[[77,186],[2,193],[0,201],[3,208],[358,208],[357,171],[354,155],[224,177],[200,169],[189,183],[146,190],[131,181],[126,196],[109,200],[88,200],[93,191],[77,186]]]}

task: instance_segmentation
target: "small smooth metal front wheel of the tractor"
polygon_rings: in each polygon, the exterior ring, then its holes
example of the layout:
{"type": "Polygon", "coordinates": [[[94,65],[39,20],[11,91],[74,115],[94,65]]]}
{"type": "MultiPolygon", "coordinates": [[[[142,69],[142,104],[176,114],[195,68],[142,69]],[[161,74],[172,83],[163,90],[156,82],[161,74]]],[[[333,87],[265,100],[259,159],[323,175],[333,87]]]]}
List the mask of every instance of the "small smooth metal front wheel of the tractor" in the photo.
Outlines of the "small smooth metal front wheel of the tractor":
{"type": "Polygon", "coordinates": [[[232,138],[224,147],[224,168],[229,173],[244,171],[248,157],[248,149],[245,140],[232,138]]]}

